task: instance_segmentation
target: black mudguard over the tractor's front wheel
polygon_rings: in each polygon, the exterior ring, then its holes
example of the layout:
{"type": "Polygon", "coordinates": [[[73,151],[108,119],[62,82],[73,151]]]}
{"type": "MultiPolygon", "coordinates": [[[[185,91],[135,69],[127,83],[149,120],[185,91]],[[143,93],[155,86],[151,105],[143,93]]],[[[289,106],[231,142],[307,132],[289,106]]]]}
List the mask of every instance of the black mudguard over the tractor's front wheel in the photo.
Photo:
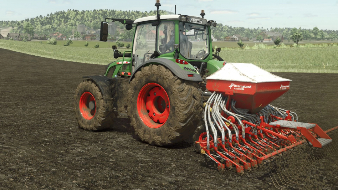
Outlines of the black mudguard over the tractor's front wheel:
{"type": "Polygon", "coordinates": [[[92,79],[97,86],[99,87],[104,101],[105,111],[114,111],[113,105],[113,96],[112,96],[112,88],[111,84],[114,82],[112,78],[108,78],[106,76],[97,75],[97,76],[83,76],[82,78],[90,78],[92,79]]]}

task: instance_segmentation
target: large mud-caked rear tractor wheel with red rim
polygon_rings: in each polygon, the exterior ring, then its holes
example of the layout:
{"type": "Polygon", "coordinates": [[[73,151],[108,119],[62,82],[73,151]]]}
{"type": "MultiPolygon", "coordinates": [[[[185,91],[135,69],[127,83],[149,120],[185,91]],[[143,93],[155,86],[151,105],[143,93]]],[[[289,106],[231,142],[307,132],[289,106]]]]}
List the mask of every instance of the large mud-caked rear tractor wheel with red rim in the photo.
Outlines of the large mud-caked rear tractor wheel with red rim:
{"type": "Polygon", "coordinates": [[[201,121],[201,98],[197,82],[180,79],[163,65],[145,66],[130,81],[130,125],[142,141],[151,145],[186,140],[201,121]]]}

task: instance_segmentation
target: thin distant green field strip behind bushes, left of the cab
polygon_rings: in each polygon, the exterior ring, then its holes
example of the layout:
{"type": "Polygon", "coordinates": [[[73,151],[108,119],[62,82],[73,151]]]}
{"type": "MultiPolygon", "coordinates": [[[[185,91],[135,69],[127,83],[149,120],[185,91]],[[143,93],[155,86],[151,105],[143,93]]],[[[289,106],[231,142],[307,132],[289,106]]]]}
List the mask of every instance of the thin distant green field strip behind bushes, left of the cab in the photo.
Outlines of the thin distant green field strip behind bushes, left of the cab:
{"type": "MultiPolygon", "coordinates": [[[[43,40],[43,41],[30,41],[32,43],[40,43],[42,42],[43,44],[47,44],[47,40],[43,40]]],[[[70,47],[85,47],[84,44],[88,42],[88,47],[87,48],[95,48],[95,44],[98,43],[100,45],[99,48],[112,48],[113,45],[116,45],[115,42],[101,42],[101,41],[91,41],[91,40],[73,40],[73,43],[70,44],[70,47]]],[[[57,46],[64,46],[64,43],[66,43],[66,40],[57,40],[57,46]]],[[[127,44],[132,44],[132,42],[122,42],[124,43],[124,46],[126,46],[127,44]]]]}

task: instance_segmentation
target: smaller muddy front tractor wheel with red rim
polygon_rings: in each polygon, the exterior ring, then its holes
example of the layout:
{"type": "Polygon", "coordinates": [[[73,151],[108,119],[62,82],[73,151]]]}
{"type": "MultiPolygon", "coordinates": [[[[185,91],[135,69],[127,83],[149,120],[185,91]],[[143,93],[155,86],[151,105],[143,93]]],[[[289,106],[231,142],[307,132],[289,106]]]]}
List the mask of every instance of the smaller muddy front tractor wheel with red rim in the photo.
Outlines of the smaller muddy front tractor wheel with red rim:
{"type": "MultiPolygon", "coordinates": [[[[112,89],[114,91],[114,85],[112,89]]],[[[84,130],[109,128],[116,118],[113,111],[105,111],[101,91],[91,79],[84,80],[77,86],[74,95],[74,111],[78,126],[84,130]]]]}

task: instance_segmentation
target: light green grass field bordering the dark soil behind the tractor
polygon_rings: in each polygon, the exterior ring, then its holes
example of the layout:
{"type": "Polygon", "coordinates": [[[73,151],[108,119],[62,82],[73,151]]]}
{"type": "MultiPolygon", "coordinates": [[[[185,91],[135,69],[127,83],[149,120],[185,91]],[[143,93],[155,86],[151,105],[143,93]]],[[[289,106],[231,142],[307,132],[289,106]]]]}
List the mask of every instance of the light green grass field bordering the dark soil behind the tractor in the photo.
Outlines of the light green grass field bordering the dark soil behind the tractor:
{"type": "MultiPolygon", "coordinates": [[[[310,47],[311,46],[311,47],[310,47]]],[[[108,64],[115,60],[112,49],[58,46],[0,40],[0,48],[58,60],[108,64]]],[[[338,73],[338,47],[222,49],[227,62],[253,63],[270,72],[338,73]]]]}

